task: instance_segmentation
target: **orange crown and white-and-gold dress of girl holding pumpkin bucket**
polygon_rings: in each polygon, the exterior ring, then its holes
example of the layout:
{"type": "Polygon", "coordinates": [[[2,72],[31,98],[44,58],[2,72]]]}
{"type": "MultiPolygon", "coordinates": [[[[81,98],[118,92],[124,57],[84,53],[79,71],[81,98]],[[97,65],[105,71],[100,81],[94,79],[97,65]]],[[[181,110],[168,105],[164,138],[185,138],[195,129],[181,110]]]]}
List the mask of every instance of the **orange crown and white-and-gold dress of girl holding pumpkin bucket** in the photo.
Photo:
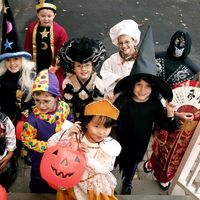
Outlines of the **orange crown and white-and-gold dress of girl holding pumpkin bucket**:
{"type": "MultiPolygon", "coordinates": [[[[93,116],[107,117],[109,120],[116,120],[119,115],[119,110],[114,107],[108,100],[102,99],[99,101],[94,101],[86,105],[84,110],[84,117],[93,118],[93,116]]],[[[105,118],[104,118],[105,119],[105,118]]],[[[91,121],[91,119],[89,120],[91,121]]],[[[88,126],[88,121],[83,125],[84,119],[82,122],[82,129],[88,126]]],[[[111,121],[108,127],[112,127],[111,121]]],[[[66,127],[69,127],[69,123],[65,123],[66,127]]],[[[63,125],[63,126],[64,126],[63,125]]],[[[63,128],[66,130],[66,128],[63,128]]],[[[87,130],[80,136],[80,142],[78,143],[81,148],[81,145],[85,147],[85,157],[86,157],[86,168],[81,177],[81,180],[78,184],[73,186],[73,188],[66,188],[65,190],[58,190],[57,200],[68,200],[68,199],[77,199],[77,200],[116,200],[114,196],[114,190],[117,185],[115,176],[111,173],[114,167],[114,162],[116,157],[121,151],[120,144],[110,136],[105,136],[104,139],[100,142],[91,141],[88,139],[87,130]]],[[[53,145],[60,141],[61,133],[57,133],[49,139],[49,143],[53,145]]],[[[92,134],[90,132],[90,134],[92,134]]],[[[94,134],[94,133],[93,133],[94,134]]],[[[62,137],[63,142],[68,144],[68,146],[73,147],[77,145],[76,134],[69,134],[66,132],[62,137]],[[70,145],[69,145],[70,144],[70,145]]],[[[62,143],[61,139],[61,143],[62,143]]]]}

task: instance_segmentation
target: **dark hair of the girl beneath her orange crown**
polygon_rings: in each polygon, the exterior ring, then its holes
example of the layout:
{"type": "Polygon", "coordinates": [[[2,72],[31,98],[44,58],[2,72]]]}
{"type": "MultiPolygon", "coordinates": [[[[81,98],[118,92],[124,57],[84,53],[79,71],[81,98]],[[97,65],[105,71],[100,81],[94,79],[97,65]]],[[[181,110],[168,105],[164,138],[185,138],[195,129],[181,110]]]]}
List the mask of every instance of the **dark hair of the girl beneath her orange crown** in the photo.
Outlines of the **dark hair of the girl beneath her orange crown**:
{"type": "MultiPolygon", "coordinates": [[[[85,132],[87,131],[87,125],[94,116],[97,116],[97,115],[89,115],[89,116],[81,115],[80,116],[81,128],[82,128],[83,134],[85,134],[85,132]]],[[[116,120],[110,117],[106,117],[106,116],[97,116],[97,117],[98,117],[98,121],[104,124],[106,128],[116,126],[116,120]]],[[[113,138],[116,138],[116,134],[114,133],[113,128],[110,132],[110,136],[112,136],[113,138]]]]}

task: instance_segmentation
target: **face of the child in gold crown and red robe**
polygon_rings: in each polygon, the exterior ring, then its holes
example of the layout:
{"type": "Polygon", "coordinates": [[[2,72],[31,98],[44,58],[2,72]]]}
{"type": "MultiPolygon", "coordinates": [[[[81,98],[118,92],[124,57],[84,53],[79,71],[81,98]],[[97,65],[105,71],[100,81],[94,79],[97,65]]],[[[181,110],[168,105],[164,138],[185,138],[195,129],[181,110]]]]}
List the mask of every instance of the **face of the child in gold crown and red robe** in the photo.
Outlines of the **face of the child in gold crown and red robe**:
{"type": "Polygon", "coordinates": [[[51,9],[42,9],[37,13],[40,25],[47,27],[51,26],[56,14],[51,9]]]}

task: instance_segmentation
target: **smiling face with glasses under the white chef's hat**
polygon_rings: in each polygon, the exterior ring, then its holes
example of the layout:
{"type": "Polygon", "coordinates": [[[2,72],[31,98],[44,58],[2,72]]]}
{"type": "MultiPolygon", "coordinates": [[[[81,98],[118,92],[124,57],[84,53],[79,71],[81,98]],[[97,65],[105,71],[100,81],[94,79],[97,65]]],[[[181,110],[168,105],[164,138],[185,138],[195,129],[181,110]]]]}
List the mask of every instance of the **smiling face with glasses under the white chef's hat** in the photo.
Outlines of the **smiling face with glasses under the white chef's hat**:
{"type": "Polygon", "coordinates": [[[118,47],[119,50],[125,56],[131,56],[135,52],[135,41],[129,35],[120,35],[118,37],[118,47]]]}

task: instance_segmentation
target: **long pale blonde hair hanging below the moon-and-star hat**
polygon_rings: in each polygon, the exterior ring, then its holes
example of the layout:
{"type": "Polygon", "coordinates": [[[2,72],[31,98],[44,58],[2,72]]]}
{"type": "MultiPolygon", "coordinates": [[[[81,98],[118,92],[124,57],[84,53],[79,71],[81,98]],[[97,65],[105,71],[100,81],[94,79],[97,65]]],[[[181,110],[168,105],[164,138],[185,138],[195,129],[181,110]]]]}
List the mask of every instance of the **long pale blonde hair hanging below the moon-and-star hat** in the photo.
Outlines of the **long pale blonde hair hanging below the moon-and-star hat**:
{"type": "MultiPolygon", "coordinates": [[[[23,93],[25,93],[24,101],[27,102],[32,98],[32,87],[36,77],[35,63],[22,57],[22,73],[19,78],[19,85],[23,93]]],[[[5,60],[0,62],[0,76],[3,76],[7,71],[5,60]]]]}

